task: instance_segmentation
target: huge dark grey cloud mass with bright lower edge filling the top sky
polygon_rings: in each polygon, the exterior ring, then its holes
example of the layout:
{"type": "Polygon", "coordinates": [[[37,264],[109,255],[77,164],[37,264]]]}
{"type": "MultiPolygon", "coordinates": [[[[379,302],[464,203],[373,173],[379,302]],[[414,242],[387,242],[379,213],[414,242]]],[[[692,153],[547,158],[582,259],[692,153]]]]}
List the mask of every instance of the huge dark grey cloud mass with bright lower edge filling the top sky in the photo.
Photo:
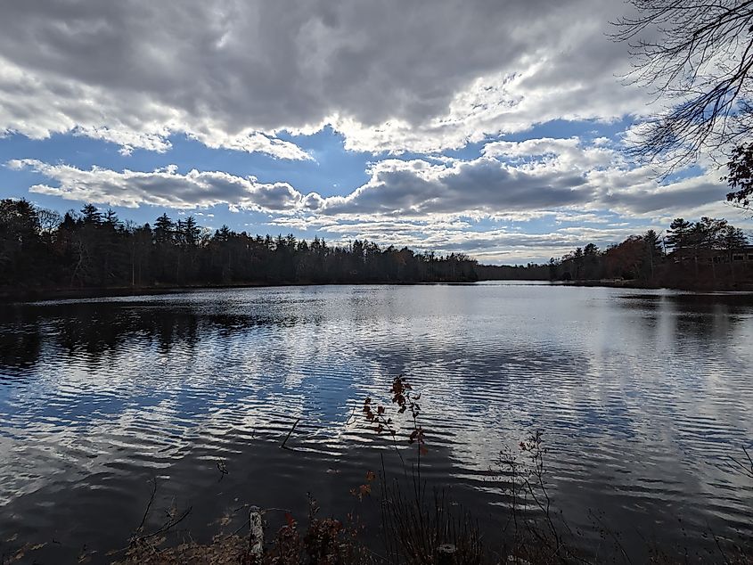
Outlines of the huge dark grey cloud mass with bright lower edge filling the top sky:
{"type": "Polygon", "coordinates": [[[442,151],[552,119],[645,111],[621,86],[617,2],[9,2],[0,132],[166,151],[183,133],[308,156],[276,135],[329,124],[348,149],[442,151]],[[567,21],[568,25],[562,25],[567,21]]]}

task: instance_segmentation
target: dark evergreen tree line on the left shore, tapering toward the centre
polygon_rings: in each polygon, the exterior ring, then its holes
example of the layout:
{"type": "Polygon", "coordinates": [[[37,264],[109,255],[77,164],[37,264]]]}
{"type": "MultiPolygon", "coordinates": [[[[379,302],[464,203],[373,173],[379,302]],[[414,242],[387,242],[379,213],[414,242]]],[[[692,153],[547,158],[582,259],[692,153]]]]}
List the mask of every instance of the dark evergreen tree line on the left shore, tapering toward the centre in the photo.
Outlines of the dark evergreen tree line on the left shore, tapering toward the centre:
{"type": "Polygon", "coordinates": [[[6,290],[159,286],[471,282],[476,261],[355,240],[211,232],[194,217],[153,225],[86,204],[60,215],[26,200],[0,201],[0,287],[6,290]]]}

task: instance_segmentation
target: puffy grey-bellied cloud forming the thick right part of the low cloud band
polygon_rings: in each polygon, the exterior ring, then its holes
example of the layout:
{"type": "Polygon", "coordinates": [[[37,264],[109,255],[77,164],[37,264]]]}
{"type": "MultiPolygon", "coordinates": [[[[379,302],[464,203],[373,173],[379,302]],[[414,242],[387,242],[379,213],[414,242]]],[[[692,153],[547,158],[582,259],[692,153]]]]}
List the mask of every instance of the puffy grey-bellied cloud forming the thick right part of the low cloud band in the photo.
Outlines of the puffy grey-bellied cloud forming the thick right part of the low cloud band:
{"type": "MultiPolygon", "coordinates": [[[[549,214],[585,220],[610,211],[632,218],[694,217],[724,193],[715,172],[659,184],[648,167],[630,167],[601,140],[577,137],[487,143],[475,160],[382,160],[347,196],[321,201],[323,215],[464,215],[524,220],[549,214]]],[[[710,208],[709,208],[710,207],[710,208]]]]}

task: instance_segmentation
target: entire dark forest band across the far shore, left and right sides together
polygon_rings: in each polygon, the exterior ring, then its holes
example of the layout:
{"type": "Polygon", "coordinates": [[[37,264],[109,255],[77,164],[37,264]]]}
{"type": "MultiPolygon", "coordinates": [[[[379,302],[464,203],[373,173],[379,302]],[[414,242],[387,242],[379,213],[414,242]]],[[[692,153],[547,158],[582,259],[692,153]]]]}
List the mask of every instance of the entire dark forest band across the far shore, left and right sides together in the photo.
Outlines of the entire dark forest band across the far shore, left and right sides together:
{"type": "Polygon", "coordinates": [[[540,280],[668,288],[748,288],[753,249],[724,219],[677,218],[604,250],[588,243],[546,264],[488,266],[354,240],[329,245],[292,234],[212,233],[188,216],[135,225],[86,204],[62,215],[29,201],[0,201],[0,292],[191,286],[540,280]]]}

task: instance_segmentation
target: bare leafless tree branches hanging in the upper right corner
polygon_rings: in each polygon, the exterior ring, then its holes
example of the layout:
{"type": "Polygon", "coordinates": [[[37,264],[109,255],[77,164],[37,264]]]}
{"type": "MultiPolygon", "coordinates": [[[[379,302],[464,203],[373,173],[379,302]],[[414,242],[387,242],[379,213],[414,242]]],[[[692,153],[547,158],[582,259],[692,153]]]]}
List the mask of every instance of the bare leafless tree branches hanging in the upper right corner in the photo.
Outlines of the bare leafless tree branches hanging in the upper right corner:
{"type": "Polygon", "coordinates": [[[712,159],[753,132],[753,0],[630,0],[615,22],[630,45],[626,83],[651,89],[662,108],[636,127],[628,151],[667,172],[712,159]]]}

